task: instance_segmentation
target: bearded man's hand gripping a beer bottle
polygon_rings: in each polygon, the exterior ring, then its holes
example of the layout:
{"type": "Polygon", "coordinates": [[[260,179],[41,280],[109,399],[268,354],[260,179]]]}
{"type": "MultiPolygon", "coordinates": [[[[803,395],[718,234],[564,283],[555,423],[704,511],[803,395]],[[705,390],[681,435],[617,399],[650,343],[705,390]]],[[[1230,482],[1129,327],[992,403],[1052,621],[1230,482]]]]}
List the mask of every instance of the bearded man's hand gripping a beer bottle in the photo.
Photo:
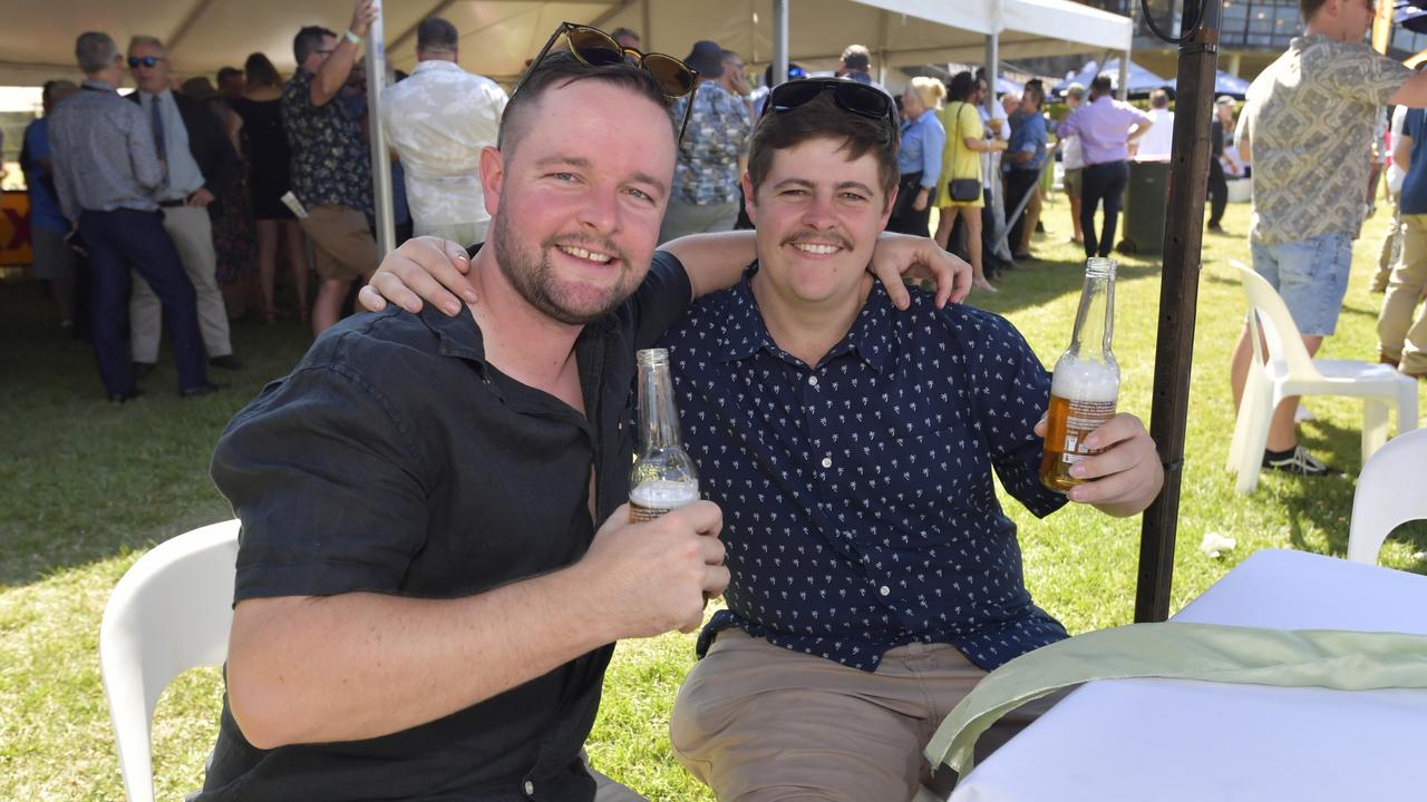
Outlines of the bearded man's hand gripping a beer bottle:
{"type": "Polygon", "coordinates": [[[712,501],[641,524],[631,524],[629,505],[621,505],[579,561],[592,604],[609,612],[621,638],[698,629],[705,601],[728,587],[722,528],[723,514],[712,501]]]}

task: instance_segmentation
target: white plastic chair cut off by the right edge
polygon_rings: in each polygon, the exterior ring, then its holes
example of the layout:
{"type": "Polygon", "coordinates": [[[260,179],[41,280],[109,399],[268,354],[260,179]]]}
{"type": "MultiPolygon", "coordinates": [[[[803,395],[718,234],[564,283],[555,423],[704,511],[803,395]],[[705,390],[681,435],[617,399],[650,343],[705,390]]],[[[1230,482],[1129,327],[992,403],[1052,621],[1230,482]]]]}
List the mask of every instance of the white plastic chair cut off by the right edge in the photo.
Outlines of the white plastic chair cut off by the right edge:
{"type": "Polygon", "coordinates": [[[1377,552],[1393,529],[1407,521],[1427,518],[1427,494],[1403,482],[1427,474],[1427,430],[1400,434],[1363,465],[1353,492],[1353,522],[1347,534],[1347,558],[1377,564],[1377,552]]]}

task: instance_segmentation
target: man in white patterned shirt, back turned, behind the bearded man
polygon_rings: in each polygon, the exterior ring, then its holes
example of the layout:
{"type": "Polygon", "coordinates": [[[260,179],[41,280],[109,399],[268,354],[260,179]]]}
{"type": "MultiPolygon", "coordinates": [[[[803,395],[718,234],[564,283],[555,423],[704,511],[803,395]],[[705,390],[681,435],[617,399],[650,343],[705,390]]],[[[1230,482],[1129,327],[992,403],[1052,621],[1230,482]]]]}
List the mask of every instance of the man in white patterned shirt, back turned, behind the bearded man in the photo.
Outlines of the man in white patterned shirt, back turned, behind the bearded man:
{"type": "Polygon", "coordinates": [[[381,124],[407,173],[415,235],[464,245],[485,241],[491,215],[481,191],[481,148],[495,147],[505,90],[457,61],[455,26],[417,26],[417,67],[381,96],[381,124]]]}

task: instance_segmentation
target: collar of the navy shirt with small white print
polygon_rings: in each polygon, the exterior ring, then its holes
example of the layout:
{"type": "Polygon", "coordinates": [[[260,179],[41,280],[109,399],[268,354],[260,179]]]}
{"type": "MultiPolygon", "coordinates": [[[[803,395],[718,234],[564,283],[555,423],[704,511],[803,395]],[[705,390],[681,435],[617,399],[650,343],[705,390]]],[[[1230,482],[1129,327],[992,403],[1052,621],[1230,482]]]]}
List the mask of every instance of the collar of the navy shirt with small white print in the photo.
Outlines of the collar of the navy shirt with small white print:
{"type": "MultiPolygon", "coordinates": [[[[751,283],[756,273],[758,263],[755,261],[743,270],[743,278],[728,290],[725,305],[721,310],[723,313],[721,315],[723,338],[712,348],[712,354],[719,362],[746,360],[758,351],[768,351],[778,358],[792,358],[778,347],[773,335],[768,333],[768,324],[763,323],[763,313],[758,308],[751,283]]],[[[895,314],[896,308],[892,305],[886,288],[882,287],[880,281],[872,281],[872,291],[868,293],[868,300],[858,311],[858,317],[852,320],[852,328],[828,351],[823,360],[852,351],[868,367],[879,374],[885,372],[893,357],[893,348],[889,345],[896,340],[889,311],[895,314]]]]}

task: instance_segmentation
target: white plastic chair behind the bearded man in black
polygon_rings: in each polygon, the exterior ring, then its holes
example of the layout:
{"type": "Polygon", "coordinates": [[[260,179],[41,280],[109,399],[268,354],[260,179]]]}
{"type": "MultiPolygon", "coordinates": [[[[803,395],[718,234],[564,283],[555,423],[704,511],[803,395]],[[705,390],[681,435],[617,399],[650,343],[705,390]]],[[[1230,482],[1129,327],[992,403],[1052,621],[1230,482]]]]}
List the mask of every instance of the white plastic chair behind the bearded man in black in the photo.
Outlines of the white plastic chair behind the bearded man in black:
{"type": "Polygon", "coordinates": [[[114,587],[98,628],[98,665],[128,802],[153,802],[154,705],[180,674],[228,655],[238,522],[154,547],[114,587]]]}

